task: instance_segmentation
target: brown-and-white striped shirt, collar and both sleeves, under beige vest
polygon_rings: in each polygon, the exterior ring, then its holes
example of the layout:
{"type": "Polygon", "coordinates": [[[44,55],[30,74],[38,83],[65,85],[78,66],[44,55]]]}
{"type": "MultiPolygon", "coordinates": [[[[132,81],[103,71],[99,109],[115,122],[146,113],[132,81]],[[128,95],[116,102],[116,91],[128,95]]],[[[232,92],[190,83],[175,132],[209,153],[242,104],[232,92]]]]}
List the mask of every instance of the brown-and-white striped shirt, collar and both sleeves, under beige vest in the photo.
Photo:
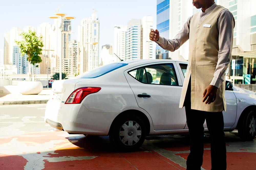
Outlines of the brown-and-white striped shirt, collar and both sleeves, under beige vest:
{"type": "MultiPolygon", "coordinates": [[[[211,13],[211,11],[216,6],[216,3],[214,3],[211,7],[207,8],[205,12],[202,12],[201,10],[199,24],[211,13]]],[[[169,50],[172,52],[177,50],[189,39],[189,25],[192,17],[193,16],[188,18],[187,22],[184,24],[183,28],[179,31],[179,33],[174,37],[174,39],[169,40],[163,37],[159,37],[156,43],[165,50],[169,50]]],[[[217,25],[217,29],[219,32],[218,62],[214,72],[214,78],[212,79],[210,85],[219,88],[224,81],[226,69],[228,68],[228,65],[231,61],[230,54],[232,51],[234,28],[232,13],[227,9],[223,9],[217,18],[217,25]]]]}

